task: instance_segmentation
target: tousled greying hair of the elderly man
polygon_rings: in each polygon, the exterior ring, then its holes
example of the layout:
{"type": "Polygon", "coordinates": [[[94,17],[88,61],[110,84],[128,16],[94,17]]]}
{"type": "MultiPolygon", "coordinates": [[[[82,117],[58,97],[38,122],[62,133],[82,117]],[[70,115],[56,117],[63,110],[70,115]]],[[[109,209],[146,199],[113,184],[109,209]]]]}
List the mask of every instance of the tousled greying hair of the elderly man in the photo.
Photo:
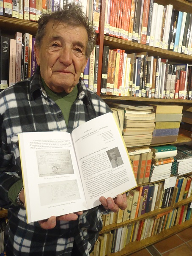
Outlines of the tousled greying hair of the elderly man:
{"type": "Polygon", "coordinates": [[[46,25],[49,21],[62,22],[69,26],[84,27],[88,33],[88,44],[85,50],[85,57],[88,59],[96,44],[96,32],[93,22],[89,22],[88,17],[82,11],[82,6],[75,3],[66,4],[63,9],[58,7],[57,11],[51,14],[41,14],[38,20],[38,29],[36,33],[36,47],[41,47],[41,41],[45,36],[46,25]]]}

